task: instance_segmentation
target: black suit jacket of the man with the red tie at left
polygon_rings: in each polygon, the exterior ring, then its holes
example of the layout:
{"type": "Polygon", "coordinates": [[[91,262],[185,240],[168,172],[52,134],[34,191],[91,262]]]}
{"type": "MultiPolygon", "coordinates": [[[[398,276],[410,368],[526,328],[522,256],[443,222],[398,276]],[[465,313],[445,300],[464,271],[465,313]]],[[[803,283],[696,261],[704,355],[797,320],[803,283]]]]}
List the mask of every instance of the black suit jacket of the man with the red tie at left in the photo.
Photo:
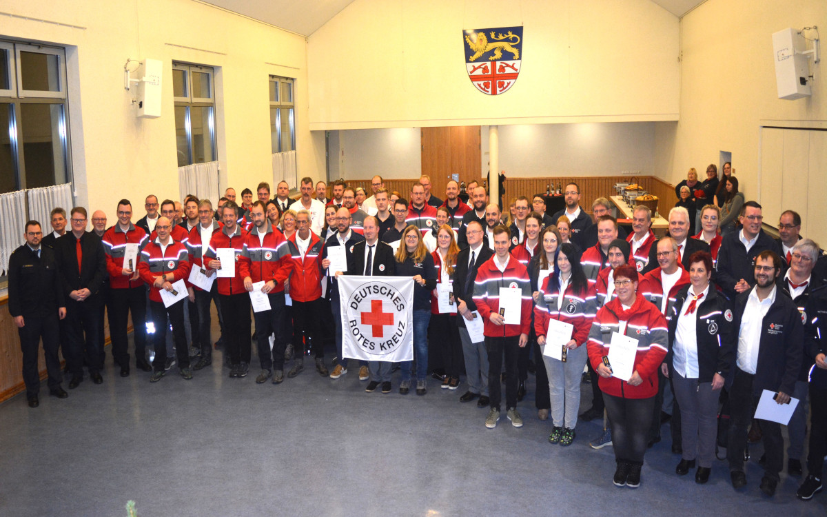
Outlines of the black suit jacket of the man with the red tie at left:
{"type": "Polygon", "coordinates": [[[87,303],[99,302],[98,292],[106,276],[106,255],[103,253],[103,244],[94,232],[84,232],[84,235],[80,237],[83,258],[80,271],[78,271],[77,242],[78,239],[74,237],[74,233],[66,232],[55,243],[55,256],[60,270],[63,293],[69,303],[69,293],[86,288],[92,291],[87,303]]]}

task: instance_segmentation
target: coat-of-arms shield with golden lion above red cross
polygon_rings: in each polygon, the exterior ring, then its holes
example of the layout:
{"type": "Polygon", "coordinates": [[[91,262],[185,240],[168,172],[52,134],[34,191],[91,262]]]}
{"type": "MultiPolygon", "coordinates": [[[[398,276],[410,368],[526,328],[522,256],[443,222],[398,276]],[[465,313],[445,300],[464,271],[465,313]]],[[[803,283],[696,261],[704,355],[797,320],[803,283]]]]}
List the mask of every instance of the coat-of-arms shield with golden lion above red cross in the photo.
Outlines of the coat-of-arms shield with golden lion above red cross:
{"type": "Polygon", "coordinates": [[[476,89],[487,95],[507,92],[519,75],[523,27],[462,31],[466,71],[476,89]]]}

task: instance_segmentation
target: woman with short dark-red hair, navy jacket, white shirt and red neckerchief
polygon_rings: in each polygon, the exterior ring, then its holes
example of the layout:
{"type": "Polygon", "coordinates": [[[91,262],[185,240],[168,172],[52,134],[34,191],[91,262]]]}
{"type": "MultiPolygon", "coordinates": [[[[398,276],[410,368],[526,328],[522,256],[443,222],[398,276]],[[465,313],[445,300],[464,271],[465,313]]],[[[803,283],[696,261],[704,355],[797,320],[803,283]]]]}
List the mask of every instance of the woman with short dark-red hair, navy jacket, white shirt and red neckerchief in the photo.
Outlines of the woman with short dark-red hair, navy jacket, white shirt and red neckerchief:
{"type": "Polygon", "coordinates": [[[696,251],[689,261],[690,285],[676,294],[669,320],[672,347],[661,370],[664,376],[672,376],[681,406],[683,456],[675,472],[686,475],[697,459],[695,481],[703,484],[710,479],[715,459],[718,399],[735,359],[738,338],[731,335],[732,323],[725,317],[727,300],[710,283],[712,256],[696,251]]]}

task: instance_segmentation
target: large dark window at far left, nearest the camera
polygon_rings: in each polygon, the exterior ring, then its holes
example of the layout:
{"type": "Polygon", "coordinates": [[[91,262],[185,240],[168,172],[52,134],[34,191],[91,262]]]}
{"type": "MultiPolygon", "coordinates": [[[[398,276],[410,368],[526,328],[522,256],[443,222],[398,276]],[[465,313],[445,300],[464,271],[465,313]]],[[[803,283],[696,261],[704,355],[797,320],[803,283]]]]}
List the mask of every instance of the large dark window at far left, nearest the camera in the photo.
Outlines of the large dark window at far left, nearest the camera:
{"type": "Polygon", "coordinates": [[[71,180],[65,50],[0,41],[0,193],[71,180]]]}

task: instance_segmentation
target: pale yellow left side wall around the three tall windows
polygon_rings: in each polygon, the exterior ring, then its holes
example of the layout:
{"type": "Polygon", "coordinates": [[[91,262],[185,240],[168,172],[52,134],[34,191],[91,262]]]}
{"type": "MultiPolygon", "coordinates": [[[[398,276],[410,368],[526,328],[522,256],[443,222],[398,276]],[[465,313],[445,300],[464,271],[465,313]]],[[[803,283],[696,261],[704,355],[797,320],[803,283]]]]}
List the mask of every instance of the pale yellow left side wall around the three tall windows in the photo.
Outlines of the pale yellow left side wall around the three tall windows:
{"type": "Polygon", "coordinates": [[[78,202],[103,208],[110,223],[125,196],[136,219],[150,192],[179,199],[173,60],[218,67],[222,184],[254,189],[272,181],[268,74],[296,78],[299,176],[323,177],[324,136],[308,129],[303,36],[190,0],[15,0],[0,11],[19,16],[0,15],[0,36],[68,46],[69,88],[77,93],[69,109],[78,202]],[[160,118],[136,117],[123,88],[127,58],[164,62],[160,118]]]}

